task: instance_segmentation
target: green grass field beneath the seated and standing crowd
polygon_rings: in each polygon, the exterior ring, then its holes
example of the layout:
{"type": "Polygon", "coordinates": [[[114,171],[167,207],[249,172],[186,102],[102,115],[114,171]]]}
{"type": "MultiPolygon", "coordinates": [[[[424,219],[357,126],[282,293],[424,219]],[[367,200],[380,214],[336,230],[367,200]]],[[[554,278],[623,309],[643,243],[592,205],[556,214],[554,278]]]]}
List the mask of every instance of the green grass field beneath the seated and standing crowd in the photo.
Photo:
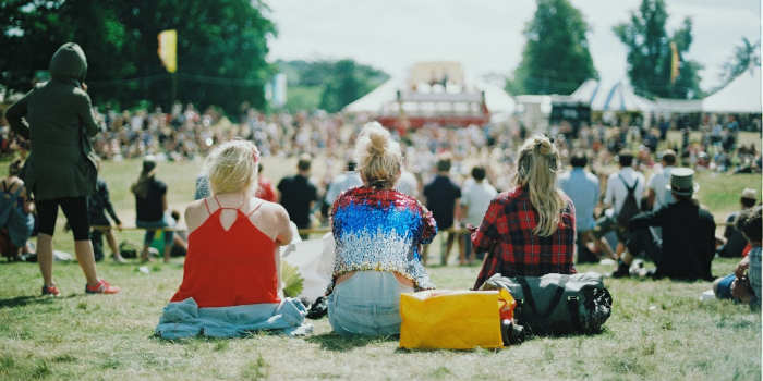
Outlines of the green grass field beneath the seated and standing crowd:
{"type": "MultiPolygon", "coordinates": [[[[173,208],[182,211],[191,200],[199,167],[159,165],[158,177],[169,184],[173,208]]],[[[277,181],[294,163],[270,159],[265,168],[277,181]]],[[[128,187],[138,170],[140,162],[126,161],[107,162],[102,171],[126,225],[134,223],[128,187]]],[[[699,198],[716,220],[737,208],[743,187],[761,189],[760,175],[702,173],[699,181],[699,198]]],[[[123,232],[118,239],[140,243],[141,235],[123,232]]],[[[71,234],[59,230],[55,245],[72,253],[71,234]]],[[[433,245],[431,255],[438,255],[438,248],[433,245]]],[[[713,273],[729,273],[735,263],[716,259],[713,273]]],[[[534,337],[501,351],[409,352],[398,348],[396,337],[334,335],[325,318],[313,321],[312,335],[299,339],[255,334],[161,341],[153,337],[153,330],[180,284],[182,261],[149,265],[148,274],[137,267],[99,263],[100,276],[123,292],[87,296],[77,265],[56,263],[53,274],[63,295],[52,299],[38,297],[41,280],[35,263],[0,263],[0,380],[761,379],[761,315],[728,302],[700,302],[708,282],[607,279],[613,316],[597,335],[534,337]]],[[[467,288],[477,271],[476,266],[435,267],[431,275],[441,288],[467,288]]]]}

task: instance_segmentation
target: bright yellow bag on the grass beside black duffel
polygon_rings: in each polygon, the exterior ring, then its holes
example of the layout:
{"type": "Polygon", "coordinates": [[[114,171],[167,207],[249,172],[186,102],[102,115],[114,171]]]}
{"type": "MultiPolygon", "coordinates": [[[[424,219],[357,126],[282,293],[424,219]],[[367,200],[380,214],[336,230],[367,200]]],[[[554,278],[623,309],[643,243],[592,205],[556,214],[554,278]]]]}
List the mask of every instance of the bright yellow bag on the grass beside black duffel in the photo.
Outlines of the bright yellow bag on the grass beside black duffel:
{"type": "Polygon", "coordinates": [[[497,291],[429,290],[401,294],[400,347],[502,348],[498,300],[497,291]]]}

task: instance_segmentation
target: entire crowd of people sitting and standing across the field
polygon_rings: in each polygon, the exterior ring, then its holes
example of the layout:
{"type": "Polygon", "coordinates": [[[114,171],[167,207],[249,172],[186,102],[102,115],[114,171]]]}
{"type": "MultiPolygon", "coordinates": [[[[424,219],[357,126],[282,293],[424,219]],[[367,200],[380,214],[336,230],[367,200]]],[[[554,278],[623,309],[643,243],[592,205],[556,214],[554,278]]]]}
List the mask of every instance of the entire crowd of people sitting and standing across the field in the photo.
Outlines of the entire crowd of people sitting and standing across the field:
{"type": "Polygon", "coordinates": [[[683,133],[680,145],[667,143],[667,149],[657,151],[654,142],[664,134],[630,126],[583,126],[580,136],[570,138],[554,134],[554,127],[549,136],[514,123],[390,132],[362,119],[265,118],[250,109],[243,109],[238,124],[213,110],[199,114],[193,107],[182,112],[175,107],[170,114],[96,116],[84,83],[85,62],[78,46],[62,46],[51,60],[52,79],[5,114],[10,128],[31,143],[31,151],[23,168],[14,162],[0,184],[11,199],[9,216],[22,217],[24,226],[7,225],[0,235],[12,249],[23,250],[26,245],[16,245],[17,233],[28,237],[34,210],[44,295],[60,294],[52,279],[59,207],[73,233],[85,291],[120,292],[96,272],[93,242],[101,237],[92,234],[92,223],[110,225],[108,213],[121,225],[106,184],[98,181],[99,160],[144,158],[131,186],[136,224],[146,230],[141,257],[148,259],[154,232],[164,230],[164,257],[169,260],[174,237],[167,228],[177,219],[168,216],[171,189],[156,179],[156,168],[161,161],[202,155],[205,171],[196,179],[197,200],[184,213],[183,281],[157,327],[164,337],[305,329],[305,307],[283,295],[278,248],[292,241],[292,222],[307,229],[320,214],[335,243],[327,309],[340,334],[399,332],[399,295],[435,287],[425,265],[427,244],[438,232],[448,234],[443,263],[457,243],[460,263],[484,255],[474,290],[496,273],[574,273],[576,251],[578,261],[617,260],[613,276],[631,275],[633,258],[643,256],[656,266],[653,276],[712,280],[716,250],[736,255],[740,243],[732,238],[740,234],[746,245],[739,255],[747,257],[735,274],[715,283],[715,291],[718,297],[760,304],[758,192],[742,193],[744,210],[734,217],[736,232],[726,237],[715,236],[713,216],[693,197],[697,171],[734,165],[739,172],[760,170],[760,152],[754,145],[734,142],[732,126],[720,127],[719,142],[713,140],[713,130],[707,147],[683,133]],[[100,119],[108,125],[106,133],[99,133],[100,119]],[[718,160],[718,152],[736,159],[718,160]],[[299,155],[296,173],[274,188],[259,175],[266,155],[299,155]],[[326,171],[326,179],[311,180],[316,156],[326,168],[341,163],[346,171],[336,177],[326,171]],[[607,173],[615,162],[619,170],[607,173]]]}

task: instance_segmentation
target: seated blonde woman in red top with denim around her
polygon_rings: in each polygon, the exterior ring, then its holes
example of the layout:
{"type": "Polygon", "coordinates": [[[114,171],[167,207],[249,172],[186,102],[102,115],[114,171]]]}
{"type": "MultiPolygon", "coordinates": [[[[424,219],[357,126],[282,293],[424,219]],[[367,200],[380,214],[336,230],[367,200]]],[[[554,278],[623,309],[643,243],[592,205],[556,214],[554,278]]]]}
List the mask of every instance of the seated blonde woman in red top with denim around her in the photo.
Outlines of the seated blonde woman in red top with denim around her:
{"type": "Polygon", "coordinates": [[[280,205],[254,197],[258,160],[257,148],[246,140],[225,143],[209,155],[213,195],[185,210],[183,281],[156,329],[160,336],[288,333],[304,322],[304,306],[282,300],[279,246],[288,245],[292,233],[280,205]]]}

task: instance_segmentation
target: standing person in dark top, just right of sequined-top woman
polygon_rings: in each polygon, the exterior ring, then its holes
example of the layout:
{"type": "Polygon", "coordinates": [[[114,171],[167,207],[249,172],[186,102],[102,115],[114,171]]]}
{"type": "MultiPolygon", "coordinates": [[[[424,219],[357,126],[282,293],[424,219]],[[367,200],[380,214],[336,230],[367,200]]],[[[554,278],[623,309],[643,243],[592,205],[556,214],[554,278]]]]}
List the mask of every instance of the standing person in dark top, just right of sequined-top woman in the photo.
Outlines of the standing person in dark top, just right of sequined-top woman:
{"type": "MultiPolygon", "coordinates": [[[[460,202],[461,188],[449,177],[450,173],[450,157],[444,156],[437,161],[437,175],[435,179],[424,186],[424,198],[426,198],[426,208],[432,210],[437,221],[437,229],[445,232],[450,228],[458,228],[453,222],[461,218],[460,202]]],[[[448,265],[448,256],[453,246],[453,242],[458,237],[458,233],[448,232],[448,238],[445,251],[441,254],[440,263],[448,265]]],[[[428,246],[424,248],[424,265],[428,256],[428,246]]],[[[463,253],[460,254],[463,258],[463,253]]]]}

